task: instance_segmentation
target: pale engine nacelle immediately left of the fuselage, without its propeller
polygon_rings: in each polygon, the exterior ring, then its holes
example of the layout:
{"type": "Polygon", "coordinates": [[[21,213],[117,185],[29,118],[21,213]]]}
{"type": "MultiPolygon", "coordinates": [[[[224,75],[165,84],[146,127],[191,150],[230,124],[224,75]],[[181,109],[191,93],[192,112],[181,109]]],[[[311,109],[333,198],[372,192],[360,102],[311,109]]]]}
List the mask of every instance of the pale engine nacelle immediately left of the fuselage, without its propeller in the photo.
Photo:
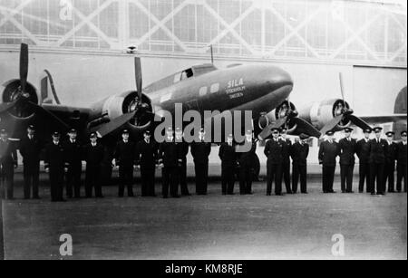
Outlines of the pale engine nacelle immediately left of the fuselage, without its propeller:
{"type": "Polygon", "coordinates": [[[139,110],[136,113],[136,117],[127,123],[126,128],[134,131],[148,129],[152,122],[151,117],[148,114],[148,112],[152,112],[151,100],[148,96],[142,94],[141,106],[139,107],[138,102],[139,98],[137,91],[125,91],[98,102],[94,107],[96,114],[92,117],[93,120],[90,122],[90,127],[98,126],[102,123],[121,117],[123,114],[139,110]]]}

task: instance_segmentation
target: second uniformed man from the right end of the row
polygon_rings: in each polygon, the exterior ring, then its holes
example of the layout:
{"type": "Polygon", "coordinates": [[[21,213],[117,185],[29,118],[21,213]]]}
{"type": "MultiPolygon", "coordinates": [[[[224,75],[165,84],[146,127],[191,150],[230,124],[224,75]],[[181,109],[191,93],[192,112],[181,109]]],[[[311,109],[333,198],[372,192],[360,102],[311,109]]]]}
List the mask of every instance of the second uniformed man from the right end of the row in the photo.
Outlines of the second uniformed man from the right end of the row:
{"type": "Polygon", "coordinates": [[[395,176],[395,159],[396,159],[396,143],[393,141],[393,131],[385,133],[387,137],[387,152],[385,154],[385,166],[384,166],[384,190],[386,188],[388,180],[388,192],[395,192],[394,176],[395,176]]]}

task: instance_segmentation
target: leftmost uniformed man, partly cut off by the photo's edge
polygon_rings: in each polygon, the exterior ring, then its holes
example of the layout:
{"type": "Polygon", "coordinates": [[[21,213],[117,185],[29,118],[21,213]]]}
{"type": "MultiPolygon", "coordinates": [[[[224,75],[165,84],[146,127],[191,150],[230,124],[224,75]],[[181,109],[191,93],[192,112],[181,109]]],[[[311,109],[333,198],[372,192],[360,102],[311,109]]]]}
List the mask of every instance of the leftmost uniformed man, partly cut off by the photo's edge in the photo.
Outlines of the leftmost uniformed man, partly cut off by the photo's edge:
{"type": "Polygon", "coordinates": [[[8,139],[5,129],[0,130],[0,173],[2,198],[14,199],[14,178],[17,168],[17,151],[15,144],[8,139]],[[6,191],[6,194],[5,194],[6,191]]]}

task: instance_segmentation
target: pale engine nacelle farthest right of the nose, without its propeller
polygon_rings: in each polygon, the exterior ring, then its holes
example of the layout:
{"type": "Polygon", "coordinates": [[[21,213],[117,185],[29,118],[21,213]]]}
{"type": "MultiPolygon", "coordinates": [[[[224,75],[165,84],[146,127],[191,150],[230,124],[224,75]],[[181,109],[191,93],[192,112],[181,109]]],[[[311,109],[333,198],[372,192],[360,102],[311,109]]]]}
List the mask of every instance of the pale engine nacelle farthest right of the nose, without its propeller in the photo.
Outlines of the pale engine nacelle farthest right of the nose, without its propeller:
{"type": "MultiPolygon", "coordinates": [[[[316,129],[320,130],[326,123],[340,115],[344,108],[350,110],[350,105],[346,101],[331,99],[313,102],[306,107],[300,108],[298,111],[300,118],[307,120],[316,129]]],[[[345,129],[350,124],[350,120],[342,120],[335,128],[335,131],[345,129]]]]}

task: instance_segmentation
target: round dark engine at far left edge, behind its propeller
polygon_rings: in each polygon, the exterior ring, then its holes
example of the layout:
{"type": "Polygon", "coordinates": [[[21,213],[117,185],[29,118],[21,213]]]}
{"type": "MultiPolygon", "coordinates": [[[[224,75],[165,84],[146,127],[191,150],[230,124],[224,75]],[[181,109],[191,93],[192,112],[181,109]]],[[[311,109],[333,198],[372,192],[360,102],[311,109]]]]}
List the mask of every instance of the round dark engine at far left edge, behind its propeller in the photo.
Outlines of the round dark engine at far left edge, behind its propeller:
{"type": "MultiPolygon", "coordinates": [[[[5,87],[2,94],[2,101],[4,103],[25,99],[26,101],[38,104],[38,95],[34,86],[26,82],[24,92],[21,90],[21,81],[18,79],[5,82],[5,87]]],[[[7,111],[7,113],[15,118],[15,120],[29,120],[34,117],[34,109],[27,105],[24,101],[17,102],[17,104],[7,111]]]]}

